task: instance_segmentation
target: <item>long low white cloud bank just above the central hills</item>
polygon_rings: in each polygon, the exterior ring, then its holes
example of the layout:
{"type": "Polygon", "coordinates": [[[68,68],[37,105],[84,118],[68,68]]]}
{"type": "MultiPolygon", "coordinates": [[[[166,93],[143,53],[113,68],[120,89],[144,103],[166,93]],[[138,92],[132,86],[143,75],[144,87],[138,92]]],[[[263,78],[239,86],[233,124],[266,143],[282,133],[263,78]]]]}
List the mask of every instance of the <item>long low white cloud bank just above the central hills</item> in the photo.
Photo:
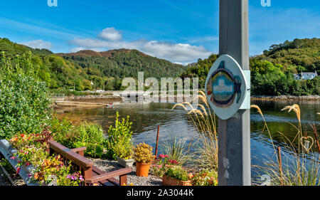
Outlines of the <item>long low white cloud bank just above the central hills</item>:
{"type": "MultiPolygon", "coordinates": [[[[102,33],[100,34],[100,38],[102,33]]],[[[77,48],[81,50],[97,48],[105,50],[114,48],[137,49],[150,56],[164,58],[174,63],[192,63],[198,60],[198,58],[208,58],[211,54],[211,52],[203,46],[193,46],[188,43],[148,41],[146,39],[119,41],[110,39],[101,40],[98,38],[75,38],[70,41],[70,44],[77,46],[77,48]]]]}

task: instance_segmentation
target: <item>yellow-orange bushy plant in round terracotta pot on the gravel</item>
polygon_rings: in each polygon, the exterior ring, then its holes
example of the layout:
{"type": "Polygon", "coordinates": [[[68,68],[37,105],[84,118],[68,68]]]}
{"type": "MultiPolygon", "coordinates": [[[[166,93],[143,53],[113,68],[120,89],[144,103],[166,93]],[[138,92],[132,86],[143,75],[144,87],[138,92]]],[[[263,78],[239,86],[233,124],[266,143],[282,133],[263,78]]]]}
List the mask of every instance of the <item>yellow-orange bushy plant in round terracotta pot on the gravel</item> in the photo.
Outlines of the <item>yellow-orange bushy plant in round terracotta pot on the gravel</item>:
{"type": "Polygon", "coordinates": [[[134,147],[134,159],[136,160],[137,176],[148,177],[151,161],[154,159],[152,147],[145,143],[137,144],[134,147]]]}

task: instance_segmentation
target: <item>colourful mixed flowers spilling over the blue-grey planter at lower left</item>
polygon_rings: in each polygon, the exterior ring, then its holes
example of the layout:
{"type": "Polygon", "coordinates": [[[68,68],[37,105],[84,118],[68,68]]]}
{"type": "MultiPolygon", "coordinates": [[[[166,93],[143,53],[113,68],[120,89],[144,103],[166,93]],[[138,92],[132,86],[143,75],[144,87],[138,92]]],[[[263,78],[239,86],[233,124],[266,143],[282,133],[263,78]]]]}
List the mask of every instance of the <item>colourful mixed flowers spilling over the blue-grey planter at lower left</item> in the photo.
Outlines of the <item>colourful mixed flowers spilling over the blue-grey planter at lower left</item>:
{"type": "Polygon", "coordinates": [[[40,134],[15,135],[9,142],[1,140],[1,152],[27,185],[82,185],[80,172],[74,172],[70,163],[65,165],[60,156],[49,155],[51,138],[46,129],[40,134]]]}

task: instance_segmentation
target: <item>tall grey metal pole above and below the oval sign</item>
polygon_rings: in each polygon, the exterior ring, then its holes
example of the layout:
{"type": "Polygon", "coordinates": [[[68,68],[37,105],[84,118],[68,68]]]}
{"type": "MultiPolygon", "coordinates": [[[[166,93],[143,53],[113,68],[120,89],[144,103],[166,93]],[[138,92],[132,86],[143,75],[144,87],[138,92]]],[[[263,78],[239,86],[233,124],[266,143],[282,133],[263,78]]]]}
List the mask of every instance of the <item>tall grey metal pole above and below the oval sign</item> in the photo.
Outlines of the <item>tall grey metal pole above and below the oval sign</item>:
{"type": "MultiPolygon", "coordinates": [[[[248,23],[248,0],[220,0],[219,53],[232,56],[242,70],[250,70],[248,23]]],[[[219,119],[218,132],[218,184],[249,186],[250,110],[219,119]]]]}

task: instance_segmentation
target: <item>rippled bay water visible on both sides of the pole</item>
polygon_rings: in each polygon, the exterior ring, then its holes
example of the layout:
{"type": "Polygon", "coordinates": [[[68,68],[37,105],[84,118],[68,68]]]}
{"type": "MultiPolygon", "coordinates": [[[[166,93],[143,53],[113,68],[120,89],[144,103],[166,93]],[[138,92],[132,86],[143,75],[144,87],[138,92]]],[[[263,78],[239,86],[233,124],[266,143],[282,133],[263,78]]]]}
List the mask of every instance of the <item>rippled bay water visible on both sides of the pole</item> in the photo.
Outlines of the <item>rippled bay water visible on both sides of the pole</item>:
{"type": "MultiPolygon", "coordinates": [[[[297,135],[298,120],[294,112],[281,111],[287,105],[297,103],[301,109],[303,130],[311,135],[309,123],[319,125],[320,102],[284,102],[284,101],[252,101],[258,105],[267,121],[274,144],[283,145],[284,136],[293,140],[297,135]],[[284,135],[284,136],[282,136],[284,135]]],[[[63,112],[60,116],[68,116],[73,121],[88,120],[97,122],[108,130],[114,124],[115,114],[119,112],[120,117],[130,116],[134,142],[146,142],[155,147],[157,127],[160,125],[159,142],[169,138],[169,135],[178,135],[191,140],[196,135],[196,129],[191,122],[188,122],[186,111],[182,109],[171,110],[174,104],[171,103],[130,103],[119,104],[113,109],[100,107],[95,109],[71,110],[63,112]]],[[[251,111],[251,157],[252,164],[262,165],[262,162],[274,157],[274,150],[271,145],[270,136],[265,129],[265,123],[257,110],[251,111]]]]}

